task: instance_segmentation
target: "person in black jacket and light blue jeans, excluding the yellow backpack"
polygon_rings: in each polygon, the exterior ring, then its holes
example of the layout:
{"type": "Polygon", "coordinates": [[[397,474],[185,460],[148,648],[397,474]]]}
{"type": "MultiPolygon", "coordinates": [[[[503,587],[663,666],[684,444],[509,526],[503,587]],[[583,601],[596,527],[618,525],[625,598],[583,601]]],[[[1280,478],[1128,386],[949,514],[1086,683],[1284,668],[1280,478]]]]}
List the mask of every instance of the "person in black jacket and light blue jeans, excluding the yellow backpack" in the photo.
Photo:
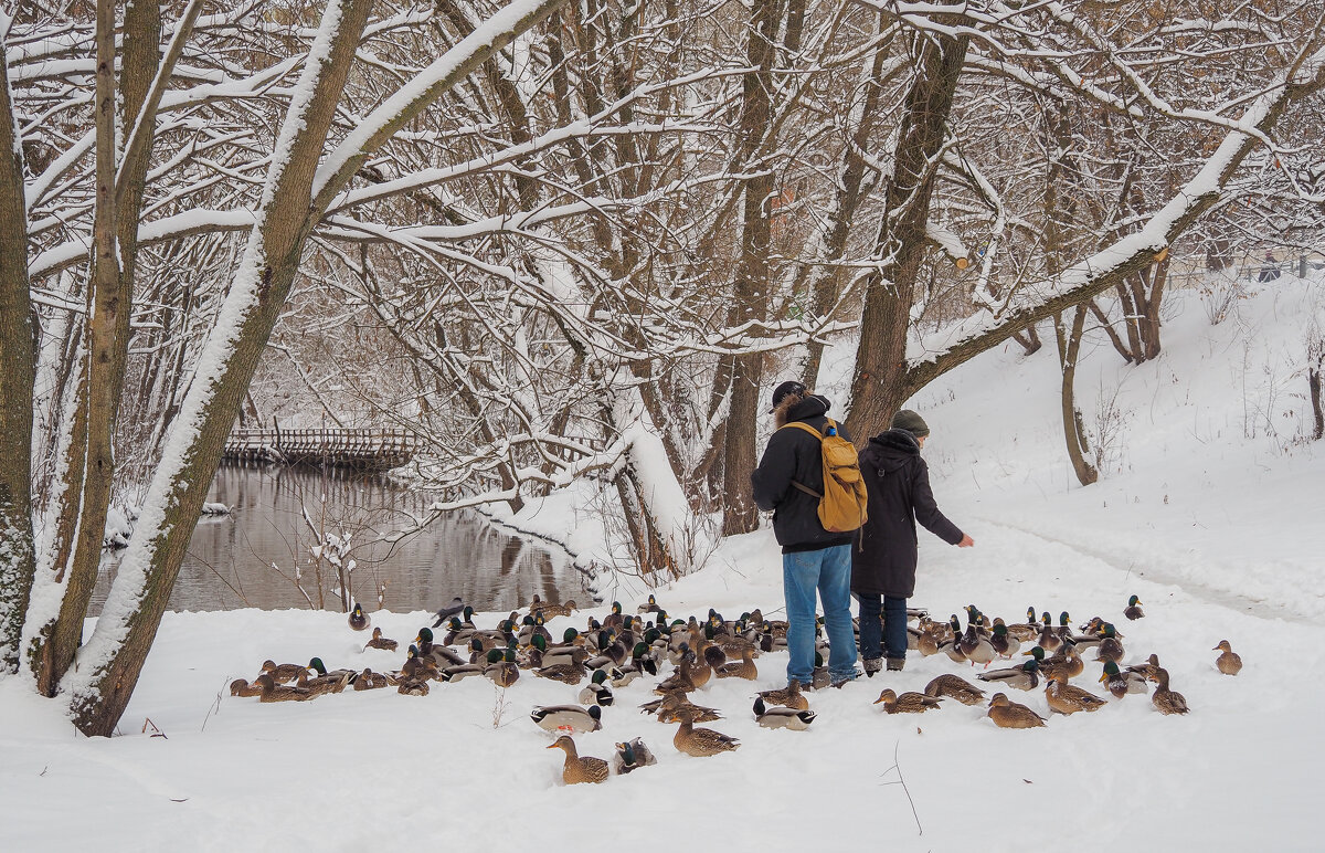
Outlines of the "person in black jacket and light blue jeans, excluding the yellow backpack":
{"type": "MultiPolygon", "coordinates": [[[[802,422],[822,435],[828,423],[827,398],[810,394],[800,382],[783,382],[772,393],[778,431],[768,439],[759,467],[751,475],[754,501],[772,511],[772,532],[782,545],[782,584],[787,601],[787,682],[810,689],[815,666],[815,602],[823,600],[828,630],[828,674],[835,687],[859,675],[856,637],[851,625],[851,549],[856,535],[832,533],[819,523],[819,499],[799,488],[823,493],[820,440],[799,427],[802,422]]],[[[839,434],[851,440],[845,430],[839,434]]]]}

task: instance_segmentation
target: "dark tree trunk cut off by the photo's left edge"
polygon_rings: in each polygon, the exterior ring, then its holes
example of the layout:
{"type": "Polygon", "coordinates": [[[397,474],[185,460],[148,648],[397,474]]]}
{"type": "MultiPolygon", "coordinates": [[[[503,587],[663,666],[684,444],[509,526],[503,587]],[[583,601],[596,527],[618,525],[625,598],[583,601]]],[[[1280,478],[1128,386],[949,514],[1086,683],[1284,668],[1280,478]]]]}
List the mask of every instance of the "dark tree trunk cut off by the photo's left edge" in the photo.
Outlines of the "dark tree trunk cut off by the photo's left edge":
{"type": "Polygon", "coordinates": [[[23,146],[13,118],[4,33],[0,33],[0,673],[19,667],[32,593],[32,394],[36,342],[28,268],[23,146]]]}

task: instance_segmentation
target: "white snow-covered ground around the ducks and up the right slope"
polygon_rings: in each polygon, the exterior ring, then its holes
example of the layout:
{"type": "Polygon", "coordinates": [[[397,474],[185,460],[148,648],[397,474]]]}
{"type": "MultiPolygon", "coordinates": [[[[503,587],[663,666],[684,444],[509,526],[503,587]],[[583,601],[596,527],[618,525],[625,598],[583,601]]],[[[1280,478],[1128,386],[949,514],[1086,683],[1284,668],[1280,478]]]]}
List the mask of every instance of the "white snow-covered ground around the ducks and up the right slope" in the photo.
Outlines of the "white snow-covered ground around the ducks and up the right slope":
{"type": "MultiPolygon", "coordinates": [[[[505,695],[465,679],[424,698],[260,704],[225,686],[265,658],[395,669],[401,655],[362,651],[366,637],[339,614],[167,614],[123,736],[86,740],[24,679],[0,681],[4,849],[1321,849],[1325,444],[1297,439],[1309,430],[1306,382],[1292,375],[1318,292],[1281,280],[1214,326],[1199,295],[1175,293],[1165,354],[1141,367],[1092,344],[1079,370],[1086,423],[1112,405],[1122,415],[1104,428],[1108,468],[1089,488],[1065,462],[1052,341],[1028,360],[1015,346],[990,353],[913,401],[933,428],[925,454],[939,505],[977,541],[959,551],[922,533],[913,604],[938,617],[974,602],[1008,621],[1028,605],[1116,621],[1129,662],[1159,654],[1192,708],[1185,718],[1128,696],[1007,731],[982,707],[889,716],[872,704],[884,686],[973,678],[934,655],[814,694],[806,732],[767,731],[750,704],[784,683],[786,655],[768,654],[758,685],[710,682],[697,698],[723,710],[709,726],[739,736],[737,752],[676,752],[674,728],[637,712],[651,698],[637,681],[617,691],[603,731],[576,742],[608,757],[640,736],[659,764],[568,788],[560,752],[543,748],[551,738],[527,714],[576,689],[523,674],[505,695]],[[1130,594],[1146,618],[1122,618],[1130,594]],[[1226,638],[1246,662],[1236,678],[1214,667],[1226,638]],[[142,732],[147,719],[164,736],[142,732]]],[[[827,370],[843,375],[848,358],[827,370]]],[[[820,382],[829,397],[841,387],[820,382]]],[[[564,504],[513,521],[594,549],[590,520],[564,504]]],[[[629,609],[643,600],[631,581],[604,593],[629,609]]],[[[771,533],[723,543],[657,596],[682,617],[776,613],[771,533]]],[[[400,641],[427,623],[424,613],[372,618],[400,641]]],[[[1077,682],[1098,687],[1097,673],[1090,662],[1077,682]]],[[[1011,692],[1047,715],[1043,691],[1011,692]]]]}

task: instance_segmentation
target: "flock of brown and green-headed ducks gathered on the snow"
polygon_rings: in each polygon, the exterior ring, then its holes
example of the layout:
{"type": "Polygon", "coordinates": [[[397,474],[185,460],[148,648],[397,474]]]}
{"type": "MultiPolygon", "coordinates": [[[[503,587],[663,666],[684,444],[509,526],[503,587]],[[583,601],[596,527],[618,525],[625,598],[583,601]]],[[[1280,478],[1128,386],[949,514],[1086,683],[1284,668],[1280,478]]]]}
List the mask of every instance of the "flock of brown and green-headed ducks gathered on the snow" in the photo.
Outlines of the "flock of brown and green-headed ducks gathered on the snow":
{"type": "MultiPolygon", "coordinates": [[[[421,627],[409,645],[400,670],[374,673],[338,669],[327,670],[321,658],[307,666],[274,661],[262,663],[261,674],[253,681],[237,679],[231,683],[236,696],[257,696],[260,702],[299,702],[346,689],[376,690],[395,687],[404,695],[427,695],[432,682],[454,682],[472,675],[490,679],[500,687],[514,685],[522,671],[538,678],[558,681],[579,687],[578,704],[534,707],[530,719],[545,731],[558,735],[549,750],[564,752],[562,777],[567,784],[604,781],[610,769],[629,773],[655,764],[653,752],[639,738],[617,743],[612,763],[580,756],[572,735],[602,728],[603,708],[615,702],[613,689],[624,687],[639,678],[659,678],[665,666],[670,671],[656,682],[657,696],[640,706],[641,712],[653,714],[665,723],[677,723],[672,739],[678,752],[702,757],[730,752],[741,746],[735,738],[696,723],[722,719],[717,708],[696,704],[690,696],[710,679],[739,678],[755,681],[755,658],[762,653],[786,649],[787,623],[768,620],[755,609],[734,621],[725,620],[716,610],[700,621],[673,620],[649,596],[636,614],[624,613],[620,602],[613,602],[611,613],[602,621],[590,617],[586,629],[567,627],[560,641],[554,641],[546,622],[554,617],[568,617],[575,602],[549,604],[534,596],[523,612],[511,612],[494,629],[480,629],[473,623],[473,608],[458,598],[448,609],[437,613],[432,627],[421,627]],[[433,629],[445,626],[437,641],[433,629]],[[468,655],[456,649],[468,650],[468,655]]],[[[1096,711],[1108,703],[1071,682],[1085,671],[1089,657],[1101,665],[1098,682],[1114,698],[1128,694],[1150,692],[1150,702],[1161,714],[1186,714],[1187,702],[1171,687],[1169,671],[1151,654],[1143,663],[1122,666],[1125,650],[1122,634],[1112,622],[1093,617],[1075,631],[1067,613],[1053,622],[1048,612],[1036,618],[1035,608],[1027,609],[1026,622],[1007,623],[1002,618],[988,620],[975,605],[966,608],[967,623],[962,629],[957,614],[947,622],[929,618],[924,610],[908,610],[909,647],[921,655],[946,654],[957,663],[983,665],[975,678],[991,689],[1030,691],[1044,685],[1044,695],[1051,711],[1076,714],[1096,711]],[[914,625],[912,625],[914,622],[914,625]],[[1023,646],[1031,645],[1027,651],[1023,646]],[[1024,655],[1030,659],[1006,669],[988,670],[998,659],[1024,655]],[[1154,691],[1149,685],[1154,683],[1154,691]]],[[[1132,596],[1124,610],[1128,620],[1145,614],[1137,596],[1132,596]]],[[[370,617],[355,604],[348,617],[350,627],[367,630],[370,617]]],[[[815,673],[812,683],[791,682],[780,690],[759,692],[753,704],[755,720],[767,728],[806,730],[815,720],[807,692],[827,687],[828,670],[823,665],[827,641],[816,641],[815,673]]],[[[398,643],[372,629],[372,639],[366,649],[394,651],[398,643]]],[[[1236,675],[1242,659],[1227,639],[1214,650],[1220,651],[1215,666],[1220,673],[1236,675]]],[[[946,699],[963,704],[983,704],[984,690],[966,679],[943,674],[930,681],[922,692],[902,692],[885,689],[874,704],[882,704],[888,714],[918,714],[941,706],[946,699]]],[[[1002,728],[1034,728],[1045,719],[1032,708],[1008,699],[1007,692],[995,692],[988,699],[987,716],[1002,728]]]]}

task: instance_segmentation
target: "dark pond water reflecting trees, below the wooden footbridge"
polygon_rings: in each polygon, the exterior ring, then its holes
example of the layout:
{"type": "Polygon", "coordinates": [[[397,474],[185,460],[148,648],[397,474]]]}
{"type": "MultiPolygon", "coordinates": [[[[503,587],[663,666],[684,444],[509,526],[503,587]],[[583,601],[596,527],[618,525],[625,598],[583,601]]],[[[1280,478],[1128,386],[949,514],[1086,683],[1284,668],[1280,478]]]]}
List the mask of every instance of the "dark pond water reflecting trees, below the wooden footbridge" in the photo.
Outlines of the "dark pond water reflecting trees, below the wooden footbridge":
{"type": "MultiPolygon", "coordinates": [[[[478,610],[514,610],[534,593],[554,602],[587,598],[583,576],[566,555],[507,536],[473,513],[444,516],[394,547],[375,543],[380,535],[408,528],[411,519],[424,517],[428,504],[427,496],[383,478],[223,466],[207,500],[235,511],[199,520],[171,593],[172,610],[319,602],[341,610],[331,552],[346,540],[342,564],[355,564],[347,574],[350,598],[368,610],[437,609],[456,596],[478,610]]],[[[90,608],[94,616],[118,560],[118,553],[102,560],[90,608]]]]}

